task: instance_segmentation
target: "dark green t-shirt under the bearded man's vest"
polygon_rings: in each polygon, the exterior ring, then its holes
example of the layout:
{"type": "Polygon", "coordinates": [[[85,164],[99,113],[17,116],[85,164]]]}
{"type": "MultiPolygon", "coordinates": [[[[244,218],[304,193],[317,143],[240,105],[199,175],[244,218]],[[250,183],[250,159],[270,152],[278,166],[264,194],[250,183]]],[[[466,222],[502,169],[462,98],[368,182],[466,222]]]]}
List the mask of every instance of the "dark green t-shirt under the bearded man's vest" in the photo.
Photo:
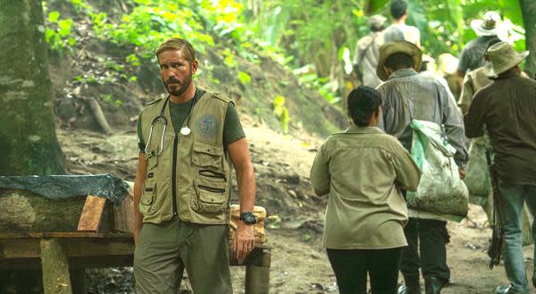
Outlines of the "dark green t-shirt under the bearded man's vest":
{"type": "MultiPolygon", "coordinates": [[[[172,116],[173,129],[175,134],[179,133],[180,128],[185,120],[188,119],[188,114],[192,107],[194,101],[197,101],[205,95],[205,91],[202,89],[197,89],[196,95],[193,99],[189,99],[185,103],[170,103],[170,114],[172,116]]],[[[145,143],[141,136],[141,116],[138,116],[138,149],[140,152],[143,152],[145,149],[145,143]]],[[[191,126],[190,126],[191,128],[191,126]]],[[[228,144],[235,142],[239,139],[246,137],[242,124],[240,123],[239,113],[234,104],[230,103],[227,106],[227,113],[225,114],[225,122],[223,123],[223,145],[227,146],[228,144]]]]}

